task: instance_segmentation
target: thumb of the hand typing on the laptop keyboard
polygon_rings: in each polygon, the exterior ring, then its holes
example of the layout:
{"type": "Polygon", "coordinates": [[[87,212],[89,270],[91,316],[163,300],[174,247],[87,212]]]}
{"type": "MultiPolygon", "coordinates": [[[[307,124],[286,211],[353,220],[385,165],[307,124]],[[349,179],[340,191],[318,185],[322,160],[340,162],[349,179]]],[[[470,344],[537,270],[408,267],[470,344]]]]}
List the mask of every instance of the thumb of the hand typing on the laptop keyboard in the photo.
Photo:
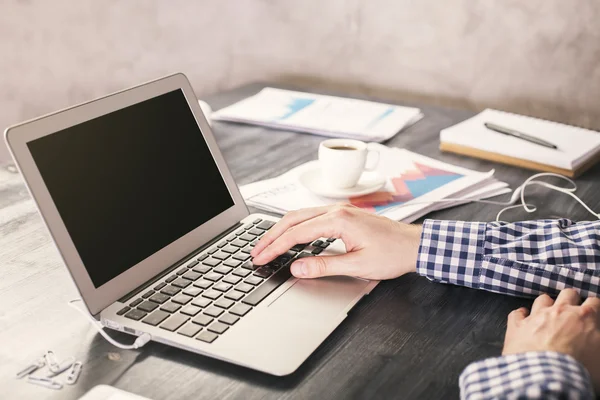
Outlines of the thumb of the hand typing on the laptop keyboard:
{"type": "Polygon", "coordinates": [[[348,275],[358,276],[356,253],[339,256],[305,257],[294,261],[292,274],[297,278],[319,278],[322,276],[348,275]]]}

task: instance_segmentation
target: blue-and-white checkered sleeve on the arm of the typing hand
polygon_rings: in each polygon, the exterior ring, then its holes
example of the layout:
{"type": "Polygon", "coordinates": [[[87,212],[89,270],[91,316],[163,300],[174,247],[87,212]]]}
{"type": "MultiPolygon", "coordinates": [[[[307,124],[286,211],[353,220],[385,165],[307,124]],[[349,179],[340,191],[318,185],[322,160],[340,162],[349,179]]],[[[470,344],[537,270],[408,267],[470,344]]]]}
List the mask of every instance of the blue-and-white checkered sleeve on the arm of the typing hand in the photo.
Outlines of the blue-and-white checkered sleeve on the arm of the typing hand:
{"type": "Polygon", "coordinates": [[[417,272],[514,296],[557,295],[568,287],[600,296],[600,221],[426,220],[417,272]]]}

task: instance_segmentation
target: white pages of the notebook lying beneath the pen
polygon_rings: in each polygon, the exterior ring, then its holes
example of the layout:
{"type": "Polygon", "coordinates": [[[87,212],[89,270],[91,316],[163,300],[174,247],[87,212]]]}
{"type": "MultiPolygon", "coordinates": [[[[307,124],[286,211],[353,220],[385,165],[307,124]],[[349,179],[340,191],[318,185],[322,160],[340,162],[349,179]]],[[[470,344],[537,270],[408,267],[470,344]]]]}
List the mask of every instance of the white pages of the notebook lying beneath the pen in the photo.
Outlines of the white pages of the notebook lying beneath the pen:
{"type": "Polygon", "coordinates": [[[568,170],[577,169],[600,152],[598,132],[490,109],[442,130],[440,140],[568,170]],[[491,131],[485,122],[546,140],[558,150],[491,131]]]}

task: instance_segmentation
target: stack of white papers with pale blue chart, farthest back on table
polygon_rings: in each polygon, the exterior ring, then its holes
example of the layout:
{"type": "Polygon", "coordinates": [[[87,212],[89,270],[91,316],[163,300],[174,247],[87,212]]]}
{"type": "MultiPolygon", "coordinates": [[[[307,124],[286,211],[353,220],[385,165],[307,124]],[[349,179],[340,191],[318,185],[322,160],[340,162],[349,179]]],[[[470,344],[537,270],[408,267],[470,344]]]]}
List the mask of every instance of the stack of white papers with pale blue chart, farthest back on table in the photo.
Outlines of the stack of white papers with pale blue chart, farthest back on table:
{"type": "Polygon", "coordinates": [[[212,113],[211,118],[382,142],[423,118],[423,114],[418,108],[265,88],[212,113]]]}

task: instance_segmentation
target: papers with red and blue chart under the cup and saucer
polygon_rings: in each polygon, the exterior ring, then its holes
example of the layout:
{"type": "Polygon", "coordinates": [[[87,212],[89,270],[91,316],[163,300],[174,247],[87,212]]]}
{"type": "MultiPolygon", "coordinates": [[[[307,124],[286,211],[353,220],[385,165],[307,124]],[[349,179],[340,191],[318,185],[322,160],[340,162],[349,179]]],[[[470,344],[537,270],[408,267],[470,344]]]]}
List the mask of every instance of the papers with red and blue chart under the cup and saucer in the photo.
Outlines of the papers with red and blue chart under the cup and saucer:
{"type": "Polygon", "coordinates": [[[477,172],[375,143],[369,147],[379,151],[377,172],[386,178],[385,186],[375,193],[344,200],[313,194],[298,178],[307,169],[315,168],[318,161],[303,164],[277,178],[251,183],[240,190],[248,205],[279,214],[345,202],[404,222],[415,221],[434,210],[510,191],[506,183],[494,179],[494,171],[477,172]],[[456,200],[435,202],[444,199],[456,200]]]}

